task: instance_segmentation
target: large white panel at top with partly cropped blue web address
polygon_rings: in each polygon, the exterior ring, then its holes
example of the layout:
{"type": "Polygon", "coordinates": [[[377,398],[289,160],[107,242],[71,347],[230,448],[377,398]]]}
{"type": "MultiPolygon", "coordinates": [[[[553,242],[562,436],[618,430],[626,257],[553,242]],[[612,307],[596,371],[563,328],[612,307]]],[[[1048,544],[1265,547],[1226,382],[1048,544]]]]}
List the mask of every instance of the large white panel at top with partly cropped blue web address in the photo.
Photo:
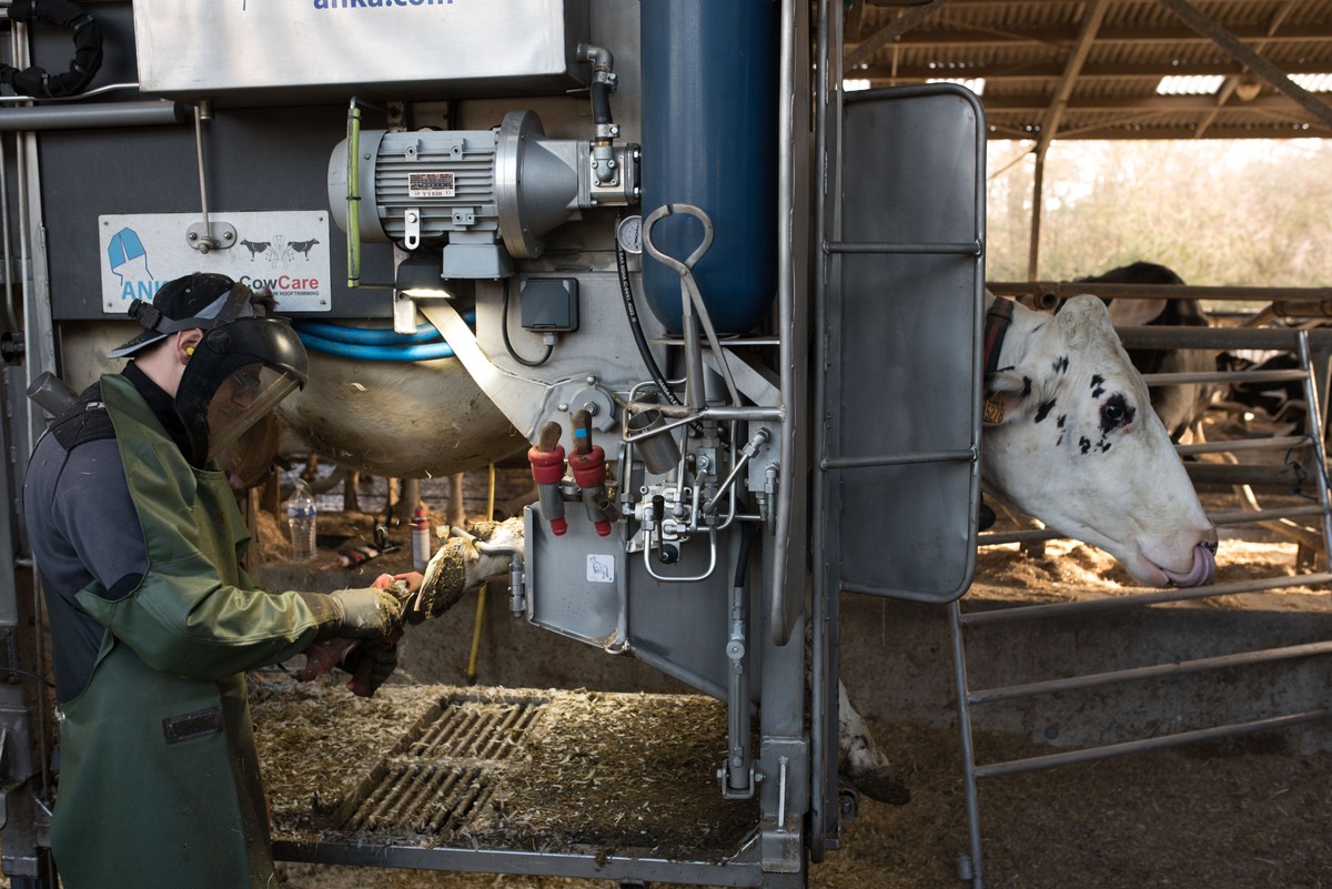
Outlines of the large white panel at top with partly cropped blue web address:
{"type": "Polygon", "coordinates": [[[562,93],[589,71],[587,0],[136,0],[135,36],[143,90],[178,98],[562,93]]]}

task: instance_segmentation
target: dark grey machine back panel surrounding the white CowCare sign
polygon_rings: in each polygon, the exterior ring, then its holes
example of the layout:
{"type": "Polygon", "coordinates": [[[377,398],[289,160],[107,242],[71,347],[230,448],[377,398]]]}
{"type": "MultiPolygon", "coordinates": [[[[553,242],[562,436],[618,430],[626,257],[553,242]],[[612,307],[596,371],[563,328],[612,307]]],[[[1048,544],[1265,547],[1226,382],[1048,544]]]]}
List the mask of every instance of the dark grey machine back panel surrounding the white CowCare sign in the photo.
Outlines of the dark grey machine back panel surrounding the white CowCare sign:
{"type": "MultiPolygon", "coordinates": [[[[328,158],[345,136],[345,106],[218,109],[204,125],[209,214],[326,210],[328,158]]],[[[52,314],[61,321],[100,319],[97,217],[200,213],[193,125],[49,130],[41,133],[40,154],[52,314]]],[[[317,317],[390,317],[390,290],[346,287],[345,234],[330,224],[324,240],[333,311],[317,317]]],[[[364,245],[361,256],[362,281],[392,279],[390,245],[364,245]]]]}

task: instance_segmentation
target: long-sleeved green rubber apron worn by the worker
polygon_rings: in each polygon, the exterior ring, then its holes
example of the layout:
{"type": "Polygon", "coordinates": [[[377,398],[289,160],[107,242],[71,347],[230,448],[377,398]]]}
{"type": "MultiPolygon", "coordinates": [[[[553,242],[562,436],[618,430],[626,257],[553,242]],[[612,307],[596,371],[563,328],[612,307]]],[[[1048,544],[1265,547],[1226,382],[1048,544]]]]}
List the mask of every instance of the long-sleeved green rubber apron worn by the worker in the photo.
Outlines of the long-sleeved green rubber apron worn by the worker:
{"type": "Polygon", "coordinates": [[[52,850],[67,889],[276,888],[245,669],[305,648],[296,594],[254,588],[226,479],[192,468],[132,383],[103,377],[149,570],[121,600],[88,687],[61,705],[52,850]]]}

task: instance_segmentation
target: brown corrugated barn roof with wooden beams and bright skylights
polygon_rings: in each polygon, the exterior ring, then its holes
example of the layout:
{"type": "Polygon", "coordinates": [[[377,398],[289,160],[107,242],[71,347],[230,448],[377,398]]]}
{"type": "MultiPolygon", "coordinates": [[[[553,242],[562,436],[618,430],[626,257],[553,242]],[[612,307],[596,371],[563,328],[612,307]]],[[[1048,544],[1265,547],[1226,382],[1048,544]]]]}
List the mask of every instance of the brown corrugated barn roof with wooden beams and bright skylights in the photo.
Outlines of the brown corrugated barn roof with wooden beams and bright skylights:
{"type": "Polygon", "coordinates": [[[992,138],[1332,137],[1332,0],[851,0],[844,37],[848,80],[983,79],[992,138]]]}

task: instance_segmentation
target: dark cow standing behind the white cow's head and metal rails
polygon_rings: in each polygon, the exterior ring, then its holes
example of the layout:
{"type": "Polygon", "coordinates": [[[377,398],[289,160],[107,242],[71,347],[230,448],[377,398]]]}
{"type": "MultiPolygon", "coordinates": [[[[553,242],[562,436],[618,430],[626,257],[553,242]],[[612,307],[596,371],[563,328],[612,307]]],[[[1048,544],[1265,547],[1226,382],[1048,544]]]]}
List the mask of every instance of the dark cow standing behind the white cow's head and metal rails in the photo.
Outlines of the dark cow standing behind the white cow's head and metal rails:
{"type": "MultiPolygon", "coordinates": [[[[1175,271],[1155,262],[1132,262],[1079,283],[1183,285],[1175,271]]],[[[1211,321],[1196,299],[1107,299],[1116,327],[1208,327],[1211,321]]],[[[1216,354],[1204,349],[1130,349],[1128,359],[1142,374],[1207,373],[1216,370],[1216,354]]],[[[1152,386],[1152,409],[1176,442],[1203,419],[1207,406],[1220,393],[1212,383],[1152,386]]]]}

